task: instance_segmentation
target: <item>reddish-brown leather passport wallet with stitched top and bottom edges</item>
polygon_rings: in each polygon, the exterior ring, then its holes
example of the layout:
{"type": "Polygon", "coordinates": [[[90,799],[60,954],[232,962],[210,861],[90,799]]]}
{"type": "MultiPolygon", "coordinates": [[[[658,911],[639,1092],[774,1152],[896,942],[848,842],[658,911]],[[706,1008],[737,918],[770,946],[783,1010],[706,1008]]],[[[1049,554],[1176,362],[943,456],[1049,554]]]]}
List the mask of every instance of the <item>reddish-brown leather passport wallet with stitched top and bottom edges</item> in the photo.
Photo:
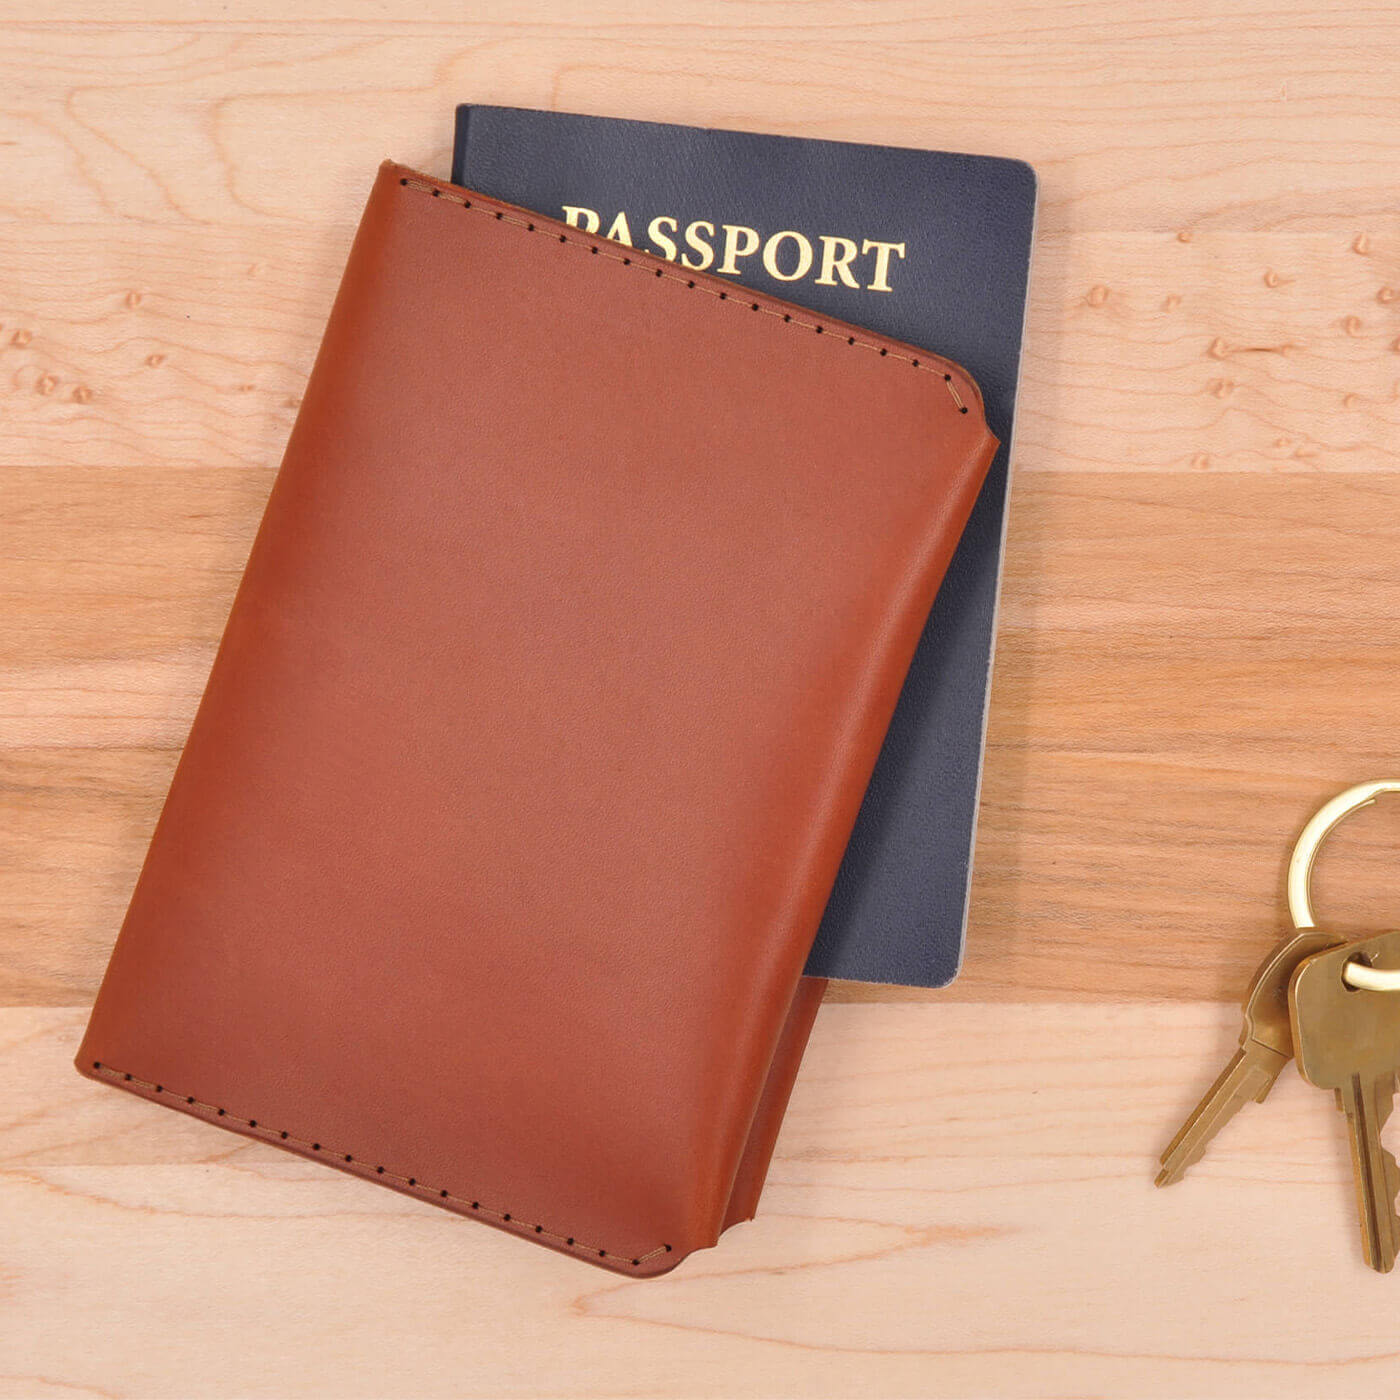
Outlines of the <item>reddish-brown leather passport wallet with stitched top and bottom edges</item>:
{"type": "Polygon", "coordinates": [[[714,1243],[994,447],[937,356],[385,165],[81,1071],[623,1273],[714,1243]]]}

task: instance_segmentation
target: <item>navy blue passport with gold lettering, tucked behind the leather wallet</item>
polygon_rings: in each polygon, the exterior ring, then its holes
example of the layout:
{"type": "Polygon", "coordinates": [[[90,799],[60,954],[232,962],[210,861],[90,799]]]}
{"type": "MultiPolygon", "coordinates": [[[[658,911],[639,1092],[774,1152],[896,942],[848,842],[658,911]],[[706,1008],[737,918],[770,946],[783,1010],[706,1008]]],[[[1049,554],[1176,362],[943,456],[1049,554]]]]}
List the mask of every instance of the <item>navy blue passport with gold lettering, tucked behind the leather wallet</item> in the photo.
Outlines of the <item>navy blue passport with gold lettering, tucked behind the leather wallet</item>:
{"type": "Polygon", "coordinates": [[[806,970],[962,965],[1036,178],[1022,161],[466,105],[452,179],[965,365],[1002,448],[928,619],[806,970]]]}

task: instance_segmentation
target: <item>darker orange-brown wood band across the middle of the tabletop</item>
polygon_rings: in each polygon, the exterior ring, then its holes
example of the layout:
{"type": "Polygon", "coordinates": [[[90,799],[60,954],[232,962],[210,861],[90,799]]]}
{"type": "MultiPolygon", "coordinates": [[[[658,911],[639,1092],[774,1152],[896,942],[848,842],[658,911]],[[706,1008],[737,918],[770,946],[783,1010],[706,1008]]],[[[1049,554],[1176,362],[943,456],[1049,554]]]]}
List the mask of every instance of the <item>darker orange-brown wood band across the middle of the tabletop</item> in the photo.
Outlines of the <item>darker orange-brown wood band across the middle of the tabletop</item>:
{"type": "MultiPolygon", "coordinates": [[[[22,475],[0,563],[0,995],[95,990],[269,484],[22,475]]],[[[1023,476],[966,970],[944,994],[840,994],[1235,998],[1298,829],[1394,766],[1396,557],[1393,475],[1023,476]]],[[[1400,823],[1378,809],[1337,840],[1319,907],[1375,927],[1400,823]]]]}

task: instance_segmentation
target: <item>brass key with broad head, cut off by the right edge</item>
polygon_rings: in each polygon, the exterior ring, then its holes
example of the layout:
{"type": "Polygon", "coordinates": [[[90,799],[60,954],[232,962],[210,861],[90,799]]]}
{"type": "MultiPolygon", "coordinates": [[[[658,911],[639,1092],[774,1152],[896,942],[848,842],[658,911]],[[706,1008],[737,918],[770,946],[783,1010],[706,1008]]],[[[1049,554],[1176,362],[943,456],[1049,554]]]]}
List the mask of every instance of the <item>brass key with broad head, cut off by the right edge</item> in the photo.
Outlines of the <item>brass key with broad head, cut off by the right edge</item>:
{"type": "Polygon", "coordinates": [[[1347,984],[1347,965],[1400,967],[1400,932],[1317,953],[1294,973],[1288,991],[1302,1077],[1336,1089],[1347,1114],[1357,1210],[1366,1263],[1386,1274],[1400,1246],[1396,1194],[1400,1168],[1380,1145],[1400,1070],[1400,995],[1347,984]]]}

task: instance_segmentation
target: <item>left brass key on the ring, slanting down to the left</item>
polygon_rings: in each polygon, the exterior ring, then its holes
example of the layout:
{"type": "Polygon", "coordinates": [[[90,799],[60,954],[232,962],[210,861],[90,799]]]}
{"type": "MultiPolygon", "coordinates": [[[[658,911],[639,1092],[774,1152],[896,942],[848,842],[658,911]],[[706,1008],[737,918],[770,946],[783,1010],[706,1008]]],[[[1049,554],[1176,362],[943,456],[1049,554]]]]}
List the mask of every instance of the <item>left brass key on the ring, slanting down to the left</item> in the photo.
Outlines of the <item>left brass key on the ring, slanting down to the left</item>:
{"type": "Polygon", "coordinates": [[[1245,997],[1245,1026],[1239,1033],[1239,1049],[1162,1154],[1158,1186],[1179,1182],[1240,1107],[1250,1102],[1263,1103],[1268,1098],[1280,1071],[1294,1054],[1288,981],[1305,958],[1338,942],[1331,934],[1316,928],[1299,928],[1260,963],[1249,995],[1245,997]]]}

